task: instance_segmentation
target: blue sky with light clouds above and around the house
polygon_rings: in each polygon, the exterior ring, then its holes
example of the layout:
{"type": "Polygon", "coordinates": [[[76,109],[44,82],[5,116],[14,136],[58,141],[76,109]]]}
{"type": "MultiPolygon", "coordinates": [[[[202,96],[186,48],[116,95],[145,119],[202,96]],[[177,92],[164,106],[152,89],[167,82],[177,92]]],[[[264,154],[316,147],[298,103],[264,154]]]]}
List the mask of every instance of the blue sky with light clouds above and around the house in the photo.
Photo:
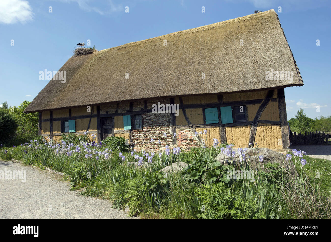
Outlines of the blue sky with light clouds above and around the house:
{"type": "Polygon", "coordinates": [[[39,80],[39,71],[59,70],[78,42],[108,49],[275,9],[305,84],[285,88],[288,119],[300,107],[310,118],[329,116],[330,6],[322,0],[1,0],[0,103],[32,101],[48,82],[39,80]]]}

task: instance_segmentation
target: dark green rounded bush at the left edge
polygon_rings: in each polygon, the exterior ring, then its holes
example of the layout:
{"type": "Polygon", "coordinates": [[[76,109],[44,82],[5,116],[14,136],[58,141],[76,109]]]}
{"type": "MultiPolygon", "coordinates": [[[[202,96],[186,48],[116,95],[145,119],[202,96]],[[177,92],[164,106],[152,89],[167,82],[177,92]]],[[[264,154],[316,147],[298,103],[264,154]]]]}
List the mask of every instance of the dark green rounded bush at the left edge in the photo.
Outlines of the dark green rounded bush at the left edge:
{"type": "Polygon", "coordinates": [[[0,109],[0,144],[7,143],[15,134],[17,122],[8,109],[0,109]]]}

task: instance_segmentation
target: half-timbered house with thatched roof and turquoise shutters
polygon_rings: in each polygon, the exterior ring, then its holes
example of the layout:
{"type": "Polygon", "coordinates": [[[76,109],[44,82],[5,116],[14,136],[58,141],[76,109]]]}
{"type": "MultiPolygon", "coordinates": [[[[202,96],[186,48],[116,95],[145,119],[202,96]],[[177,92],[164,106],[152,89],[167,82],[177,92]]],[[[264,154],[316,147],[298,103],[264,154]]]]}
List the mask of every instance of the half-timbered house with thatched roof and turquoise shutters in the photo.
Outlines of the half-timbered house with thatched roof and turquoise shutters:
{"type": "Polygon", "coordinates": [[[39,112],[39,134],[88,130],[138,149],[190,147],[203,130],[209,146],[286,148],[284,88],[303,85],[274,10],[73,57],[60,71],[65,82],[50,80],[25,110],[39,112]]]}

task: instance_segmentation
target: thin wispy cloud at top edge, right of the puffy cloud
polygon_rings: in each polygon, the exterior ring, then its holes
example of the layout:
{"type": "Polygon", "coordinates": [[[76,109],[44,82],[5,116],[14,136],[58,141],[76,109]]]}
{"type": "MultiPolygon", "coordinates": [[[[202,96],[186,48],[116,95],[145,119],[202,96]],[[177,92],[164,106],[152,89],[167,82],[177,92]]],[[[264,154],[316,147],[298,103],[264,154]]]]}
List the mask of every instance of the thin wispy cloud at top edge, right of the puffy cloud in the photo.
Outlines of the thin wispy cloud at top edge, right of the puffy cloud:
{"type": "Polygon", "coordinates": [[[96,12],[100,15],[109,14],[113,12],[124,12],[124,7],[121,4],[114,4],[112,0],[108,2],[108,6],[103,6],[102,10],[97,7],[92,7],[89,5],[90,0],[60,0],[62,2],[76,2],[80,9],[84,10],[85,12],[96,12]],[[106,9],[106,10],[105,10],[106,9]]]}

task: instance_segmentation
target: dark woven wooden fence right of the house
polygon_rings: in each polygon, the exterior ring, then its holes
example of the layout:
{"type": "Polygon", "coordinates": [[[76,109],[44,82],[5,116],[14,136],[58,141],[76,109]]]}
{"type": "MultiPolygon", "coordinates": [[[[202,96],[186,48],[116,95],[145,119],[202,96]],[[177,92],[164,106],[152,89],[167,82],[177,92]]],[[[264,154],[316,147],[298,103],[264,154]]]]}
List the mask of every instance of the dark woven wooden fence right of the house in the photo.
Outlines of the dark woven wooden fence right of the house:
{"type": "Polygon", "coordinates": [[[294,132],[290,135],[290,142],[292,145],[321,145],[329,144],[329,138],[331,139],[331,134],[317,132],[317,130],[316,132],[305,132],[305,134],[294,132]]]}

